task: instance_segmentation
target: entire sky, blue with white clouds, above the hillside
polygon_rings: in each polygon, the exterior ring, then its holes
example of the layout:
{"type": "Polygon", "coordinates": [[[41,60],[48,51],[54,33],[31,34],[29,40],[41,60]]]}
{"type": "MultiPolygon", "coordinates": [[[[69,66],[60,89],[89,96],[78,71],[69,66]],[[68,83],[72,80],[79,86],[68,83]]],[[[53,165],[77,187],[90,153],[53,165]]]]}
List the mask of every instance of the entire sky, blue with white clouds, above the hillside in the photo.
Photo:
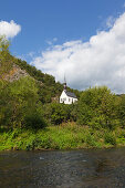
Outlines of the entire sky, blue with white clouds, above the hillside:
{"type": "Polygon", "coordinates": [[[4,0],[10,52],[72,88],[125,93],[125,0],[4,0]]]}

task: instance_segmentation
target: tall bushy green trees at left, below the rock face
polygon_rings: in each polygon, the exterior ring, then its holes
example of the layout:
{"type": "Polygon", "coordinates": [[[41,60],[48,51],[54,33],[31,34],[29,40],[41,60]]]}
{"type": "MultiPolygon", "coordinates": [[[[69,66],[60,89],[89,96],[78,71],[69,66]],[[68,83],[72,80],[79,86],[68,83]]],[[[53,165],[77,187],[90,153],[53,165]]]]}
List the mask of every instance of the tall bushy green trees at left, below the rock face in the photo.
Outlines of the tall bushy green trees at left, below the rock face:
{"type": "Polygon", "coordinates": [[[33,79],[27,76],[12,83],[2,83],[0,90],[0,124],[10,128],[42,128],[42,104],[33,79]]]}

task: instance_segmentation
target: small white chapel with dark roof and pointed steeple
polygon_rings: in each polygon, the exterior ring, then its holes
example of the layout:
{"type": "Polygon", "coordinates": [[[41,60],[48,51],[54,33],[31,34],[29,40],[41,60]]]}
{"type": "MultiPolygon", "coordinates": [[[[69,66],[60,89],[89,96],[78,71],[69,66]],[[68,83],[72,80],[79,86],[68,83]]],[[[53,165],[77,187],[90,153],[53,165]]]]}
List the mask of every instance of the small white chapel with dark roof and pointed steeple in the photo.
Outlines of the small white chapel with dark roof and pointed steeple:
{"type": "Polygon", "coordinates": [[[66,91],[66,82],[64,82],[64,90],[60,96],[60,103],[72,104],[75,103],[76,101],[77,98],[75,94],[66,91]]]}

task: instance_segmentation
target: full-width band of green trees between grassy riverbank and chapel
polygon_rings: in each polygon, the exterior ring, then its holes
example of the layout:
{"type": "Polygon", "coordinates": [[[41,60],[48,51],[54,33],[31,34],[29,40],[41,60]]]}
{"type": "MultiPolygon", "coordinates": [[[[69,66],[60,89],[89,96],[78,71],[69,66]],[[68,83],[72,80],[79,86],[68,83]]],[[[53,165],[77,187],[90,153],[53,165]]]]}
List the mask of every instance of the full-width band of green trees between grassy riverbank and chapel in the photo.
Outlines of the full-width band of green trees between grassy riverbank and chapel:
{"type": "Polygon", "coordinates": [[[125,127],[125,95],[116,96],[106,86],[82,92],[77,103],[42,103],[35,80],[0,81],[0,125],[7,128],[42,128],[76,122],[95,129],[125,127]]]}

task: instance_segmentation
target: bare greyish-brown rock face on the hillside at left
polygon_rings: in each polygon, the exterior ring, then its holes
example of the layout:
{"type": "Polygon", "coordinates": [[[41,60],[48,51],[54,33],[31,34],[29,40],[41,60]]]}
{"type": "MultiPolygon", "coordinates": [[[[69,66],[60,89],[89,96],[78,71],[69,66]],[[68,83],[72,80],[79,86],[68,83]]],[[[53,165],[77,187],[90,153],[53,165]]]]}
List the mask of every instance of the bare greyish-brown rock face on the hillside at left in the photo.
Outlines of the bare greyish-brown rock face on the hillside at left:
{"type": "Polygon", "coordinates": [[[21,70],[18,65],[13,64],[10,72],[8,74],[4,74],[2,77],[6,81],[13,82],[28,75],[29,74],[24,70],[21,70]]]}

